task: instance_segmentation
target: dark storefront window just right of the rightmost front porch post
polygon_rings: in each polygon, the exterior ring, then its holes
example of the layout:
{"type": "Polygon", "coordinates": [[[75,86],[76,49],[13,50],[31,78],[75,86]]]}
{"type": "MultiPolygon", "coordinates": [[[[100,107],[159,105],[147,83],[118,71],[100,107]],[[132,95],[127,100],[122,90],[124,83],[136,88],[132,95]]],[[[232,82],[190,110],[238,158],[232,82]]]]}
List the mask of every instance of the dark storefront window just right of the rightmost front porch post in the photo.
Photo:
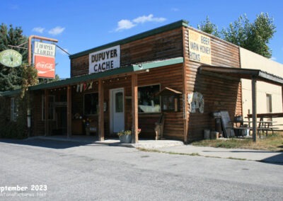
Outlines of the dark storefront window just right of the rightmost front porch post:
{"type": "Polygon", "coordinates": [[[160,113],[160,97],[155,96],[158,91],[159,84],[138,88],[139,113],[160,113]]]}

